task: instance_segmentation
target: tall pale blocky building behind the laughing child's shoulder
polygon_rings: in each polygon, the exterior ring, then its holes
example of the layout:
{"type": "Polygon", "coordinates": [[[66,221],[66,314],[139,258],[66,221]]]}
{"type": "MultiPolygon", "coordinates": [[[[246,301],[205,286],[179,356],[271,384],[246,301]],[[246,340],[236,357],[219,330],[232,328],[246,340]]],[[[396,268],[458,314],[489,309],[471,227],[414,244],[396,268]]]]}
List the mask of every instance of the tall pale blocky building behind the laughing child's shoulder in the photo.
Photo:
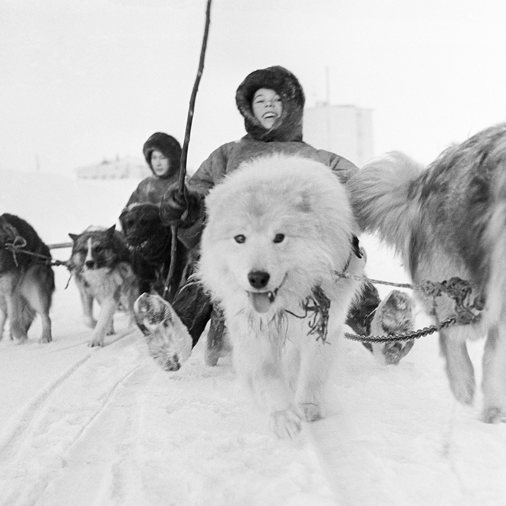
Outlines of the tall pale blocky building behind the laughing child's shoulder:
{"type": "Polygon", "coordinates": [[[372,109],[317,103],[304,110],[303,138],[311,146],[344,156],[361,167],[374,156],[372,109]]]}

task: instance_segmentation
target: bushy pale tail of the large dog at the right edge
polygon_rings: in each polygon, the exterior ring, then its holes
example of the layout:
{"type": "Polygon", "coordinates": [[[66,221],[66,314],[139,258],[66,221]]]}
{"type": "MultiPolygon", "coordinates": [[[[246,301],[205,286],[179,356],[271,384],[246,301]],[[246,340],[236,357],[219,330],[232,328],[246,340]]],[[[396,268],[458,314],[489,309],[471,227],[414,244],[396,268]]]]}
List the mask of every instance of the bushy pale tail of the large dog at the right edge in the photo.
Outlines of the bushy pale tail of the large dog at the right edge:
{"type": "Polygon", "coordinates": [[[376,232],[402,250],[418,216],[413,182],[424,167],[394,151],[372,160],[348,183],[355,217],[365,232],[376,232]]]}

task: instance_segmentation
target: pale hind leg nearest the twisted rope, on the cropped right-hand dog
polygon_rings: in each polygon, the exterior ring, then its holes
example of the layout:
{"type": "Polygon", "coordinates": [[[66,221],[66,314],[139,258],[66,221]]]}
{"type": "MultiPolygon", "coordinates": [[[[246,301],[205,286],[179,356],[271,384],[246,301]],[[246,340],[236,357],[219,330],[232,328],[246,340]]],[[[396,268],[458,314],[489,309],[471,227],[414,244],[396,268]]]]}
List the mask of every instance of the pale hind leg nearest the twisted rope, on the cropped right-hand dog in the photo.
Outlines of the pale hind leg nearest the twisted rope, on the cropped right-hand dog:
{"type": "Polygon", "coordinates": [[[458,402],[472,404],[475,393],[474,368],[466,347],[465,331],[439,331],[439,347],[446,361],[450,389],[458,402]]]}

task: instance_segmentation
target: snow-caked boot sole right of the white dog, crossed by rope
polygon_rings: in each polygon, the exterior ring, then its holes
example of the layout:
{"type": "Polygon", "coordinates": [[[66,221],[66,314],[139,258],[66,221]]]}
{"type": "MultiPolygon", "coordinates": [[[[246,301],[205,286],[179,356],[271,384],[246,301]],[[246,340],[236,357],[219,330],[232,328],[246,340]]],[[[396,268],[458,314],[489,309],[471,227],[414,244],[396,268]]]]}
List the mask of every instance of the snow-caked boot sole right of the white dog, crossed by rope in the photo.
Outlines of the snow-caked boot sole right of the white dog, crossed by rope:
{"type": "MultiPolygon", "coordinates": [[[[392,290],[379,304],[371,322],[371,335],[393,335],[414,328],[414,304],[405,292],[392,290]]],[[[372,343],[372,354],[383,364],[398,364],[414,345],[410,341],[372,343]]]]}

